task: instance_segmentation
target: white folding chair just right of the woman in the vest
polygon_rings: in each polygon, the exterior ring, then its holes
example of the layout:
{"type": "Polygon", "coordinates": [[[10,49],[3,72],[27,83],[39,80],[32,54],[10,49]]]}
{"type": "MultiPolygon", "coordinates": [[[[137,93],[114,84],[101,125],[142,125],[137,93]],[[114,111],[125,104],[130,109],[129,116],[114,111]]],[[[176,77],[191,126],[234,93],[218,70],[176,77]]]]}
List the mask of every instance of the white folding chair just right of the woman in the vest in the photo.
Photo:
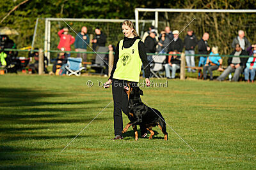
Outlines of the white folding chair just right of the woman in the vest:
{"type": "Polygon", "coordinates": [[[166,59],[166,55],[153,55],[152,59],[154,62],[154,65],[152,66],[152,68],[150,67],[150,72],[152,73],[152,77],[155,76],[156,78],[163,78],[163,76],[161,76],[161,73],[163,73],[163,69],[164,69],[163,66],[166,59]]]}

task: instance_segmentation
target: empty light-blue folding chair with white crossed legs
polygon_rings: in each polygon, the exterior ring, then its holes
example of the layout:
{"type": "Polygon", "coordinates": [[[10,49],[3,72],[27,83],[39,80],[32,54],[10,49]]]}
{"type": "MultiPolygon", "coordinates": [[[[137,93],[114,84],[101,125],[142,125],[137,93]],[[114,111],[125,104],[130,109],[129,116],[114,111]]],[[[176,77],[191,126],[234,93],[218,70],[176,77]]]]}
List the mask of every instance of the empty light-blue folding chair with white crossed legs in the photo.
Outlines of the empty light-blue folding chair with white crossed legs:
{"type": "Polygon", "coordinates": [[[68,57],[67,66],[65,66],[67,69],[67,75],[71,76],[72,74],[75,74],[76,76],[81,75],[81,71],[85,69],[85,67],[82,67],[82,59],[81,58],[74,58],[74,57],[68,57]]]}

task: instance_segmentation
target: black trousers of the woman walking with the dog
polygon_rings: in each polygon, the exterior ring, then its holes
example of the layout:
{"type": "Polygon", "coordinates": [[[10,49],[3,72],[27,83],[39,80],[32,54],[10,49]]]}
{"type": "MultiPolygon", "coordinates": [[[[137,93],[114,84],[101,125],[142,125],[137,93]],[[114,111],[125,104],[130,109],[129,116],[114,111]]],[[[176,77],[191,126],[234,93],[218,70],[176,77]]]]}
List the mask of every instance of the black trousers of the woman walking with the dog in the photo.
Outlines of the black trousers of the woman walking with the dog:
{"type": "MultiPolygon", "coordinates": [[[[123,117],[122,111],[128,115],[128,96],[124,90],[124,85],[127,85],[125,80],[113,79],[112,81],[112,94],[114,101],[114,130],[115,136],[122,136],[123,130],[123,117]]],[[[128,123],[128,122],[127,122],[128,123]]],[[[141,134],[145,134],[147,129],[140,126],[141,134]]]]}

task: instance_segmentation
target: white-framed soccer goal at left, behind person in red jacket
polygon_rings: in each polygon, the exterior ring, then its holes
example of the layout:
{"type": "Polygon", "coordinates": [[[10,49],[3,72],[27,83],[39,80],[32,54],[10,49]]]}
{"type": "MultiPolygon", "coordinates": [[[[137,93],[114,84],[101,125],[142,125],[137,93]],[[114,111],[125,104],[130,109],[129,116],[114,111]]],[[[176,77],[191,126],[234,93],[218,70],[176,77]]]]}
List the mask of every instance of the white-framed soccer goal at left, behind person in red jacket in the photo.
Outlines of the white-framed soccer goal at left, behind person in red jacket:
{"type": "MultiPolygon", "coordinates": [[[[48,59],[54,57],[50,50],[58,50],[57,46],[60,41],[58,31],[68,25],[76,32],[81,31],[81,27],[86,26],[90,39],[95,35],[95,28],[100,27],[101,31],[107,36],[106,46],[109,44],[116,45],[119,39],[123,38],[121,24],[125,19],[91,19],[91,18],[38,18],[36,20],[35,32],[33,36],[33,47],[44,46],[45,56],[48,59]]],[[[135,23],[135,20],[132,20],[135,23]]],[[[140,31],[146,31],[150,25],[154,24],[154,20],[138,20],[140,31]]],[[[68,27],[69,28],[69,27],[68,27]]],[[[70,29],[69,34],[76,36],[76,32],[70,29]]],[[[71,46],[74,49],[74,45],[71,46]]],[[[90,50],[90,49],[89,49],[90,50]]]]}

